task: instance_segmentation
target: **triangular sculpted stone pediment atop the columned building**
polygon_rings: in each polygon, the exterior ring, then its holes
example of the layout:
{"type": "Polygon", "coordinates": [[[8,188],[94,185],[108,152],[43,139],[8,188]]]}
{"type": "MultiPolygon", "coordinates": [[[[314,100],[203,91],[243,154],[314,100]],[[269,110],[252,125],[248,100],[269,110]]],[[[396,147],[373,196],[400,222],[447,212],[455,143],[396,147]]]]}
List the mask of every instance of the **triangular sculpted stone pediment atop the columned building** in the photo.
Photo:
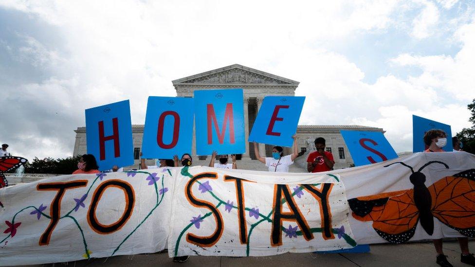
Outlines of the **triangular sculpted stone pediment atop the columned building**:
{"type": "Polygon", "coordinates": [[[206,71],[172,81],[173,85],[277,85],[298,86],[299,82],[242,65],[206,71]]]}

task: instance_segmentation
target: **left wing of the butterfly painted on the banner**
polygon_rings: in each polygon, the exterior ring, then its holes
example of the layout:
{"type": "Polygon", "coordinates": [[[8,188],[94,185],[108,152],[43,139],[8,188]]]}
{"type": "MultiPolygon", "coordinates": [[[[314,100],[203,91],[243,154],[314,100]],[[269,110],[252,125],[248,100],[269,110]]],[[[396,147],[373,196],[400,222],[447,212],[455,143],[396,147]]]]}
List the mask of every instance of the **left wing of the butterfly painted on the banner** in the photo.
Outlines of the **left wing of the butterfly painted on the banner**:
{"type": "Polygon", "coordinates": [[[386,241],[400,244],[414,236],[419,211],[414,204],[414,191],[404,190],[348,200],[353,217],[373,221],[374,230],[386,241]]]}

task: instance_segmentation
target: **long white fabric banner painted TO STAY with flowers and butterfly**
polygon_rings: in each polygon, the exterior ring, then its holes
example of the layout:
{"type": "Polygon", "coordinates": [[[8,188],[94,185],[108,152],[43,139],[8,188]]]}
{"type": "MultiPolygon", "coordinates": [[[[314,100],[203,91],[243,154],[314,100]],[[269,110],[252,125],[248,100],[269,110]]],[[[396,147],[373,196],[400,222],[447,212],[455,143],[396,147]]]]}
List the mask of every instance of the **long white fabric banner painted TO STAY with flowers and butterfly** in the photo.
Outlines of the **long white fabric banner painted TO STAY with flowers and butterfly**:
{"type": "Polygon", "coordinates": [[[156,252],[262,256],[474,236],[475,156],[320,174],[184,167],[0,189],[0,265],[156,252]]]}

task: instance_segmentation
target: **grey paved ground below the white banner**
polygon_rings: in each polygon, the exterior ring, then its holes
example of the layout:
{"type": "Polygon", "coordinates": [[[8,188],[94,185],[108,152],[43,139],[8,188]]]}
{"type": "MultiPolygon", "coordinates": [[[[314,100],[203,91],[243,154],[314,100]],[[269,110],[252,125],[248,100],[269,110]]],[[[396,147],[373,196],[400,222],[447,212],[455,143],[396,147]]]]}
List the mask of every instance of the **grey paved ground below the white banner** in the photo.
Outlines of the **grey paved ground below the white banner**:
{"type": "MultiPolygon", "coordinates": [[[[475,252],[475,240],[469,243],[470,251],[475,252]]],[[[457,241],[444,242],[445,254],[455,267],[465,266],[460,263],[460,247],[457,241]]],[[[5,264],[5,263],[2,263],[5,264]]],[[[434,246],[430,242],[410,243],[403,245],[379,244],[371,245],[370,253],[346,253],[346,254],[315,254],[315,253],[285,253],[271,257],[203,257],[192,256],[186,263],[173,263],[167,253],[140,254],[129,256],[115,256],[110,258],[83,260],[69,263],[57,263],[36,266],[74,266],[74,267],[135,267],[135,266],[273,266],[273,267],[297,267],[297,266],[438,266],[434,246]]]]}

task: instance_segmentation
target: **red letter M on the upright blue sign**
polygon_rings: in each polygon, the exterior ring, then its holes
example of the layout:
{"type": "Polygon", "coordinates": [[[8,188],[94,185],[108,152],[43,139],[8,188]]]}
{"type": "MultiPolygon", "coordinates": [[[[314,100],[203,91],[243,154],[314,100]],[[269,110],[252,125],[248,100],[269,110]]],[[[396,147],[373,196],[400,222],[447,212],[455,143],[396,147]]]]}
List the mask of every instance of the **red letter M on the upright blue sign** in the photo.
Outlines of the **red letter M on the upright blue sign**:
{"type": "Polygon", "coordinates": [[[229,140],[234,143],[234,118],[233,118],[233,104],[226,104],[226,111],[224,112],[224,121],[222,125],[222,131],[219,131],[218,120],[216,119],[215,109],[212,104],[207,105],[208,116],[208,144],[213,143],[213,134],[211,132],[211,120],[215,125],[216,133],[218,134],[218,141],[220,144],[224,142],[224,133],[226,132],[226,125],[229,121],[229,140]]]}

